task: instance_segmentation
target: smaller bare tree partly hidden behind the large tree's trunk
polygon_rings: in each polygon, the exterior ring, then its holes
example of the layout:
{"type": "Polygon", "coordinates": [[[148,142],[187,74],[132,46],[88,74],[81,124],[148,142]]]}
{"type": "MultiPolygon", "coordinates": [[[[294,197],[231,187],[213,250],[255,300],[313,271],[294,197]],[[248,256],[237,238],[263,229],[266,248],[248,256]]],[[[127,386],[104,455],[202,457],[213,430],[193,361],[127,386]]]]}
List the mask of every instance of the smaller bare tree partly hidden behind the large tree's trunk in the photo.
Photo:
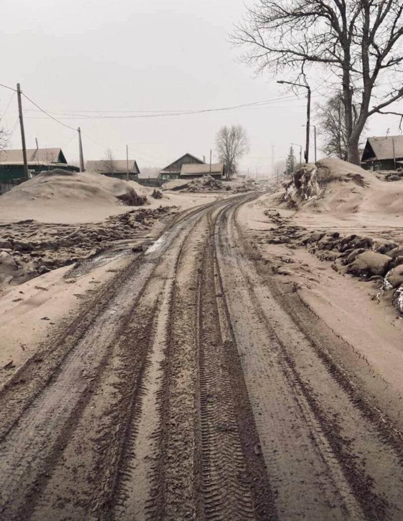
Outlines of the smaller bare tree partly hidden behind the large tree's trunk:
{"type": "MultiPolygon", "coordinates": [[[[348,159],[348,132],[346,114],[343,104],[343,93],[328,98],[325,104],[318,105],[316,116],[319,120],[318,131],[324,138],[323,152],[327,156],[336,156],[345,161],[348,159]]],[[[356,124],[357,110],[353,111],[353,124],[356,124]]],[[[367,125],[364,126],[364,130],[367,125]]],[[[361,141],[359,142],[361,146],[361,141]]]]}

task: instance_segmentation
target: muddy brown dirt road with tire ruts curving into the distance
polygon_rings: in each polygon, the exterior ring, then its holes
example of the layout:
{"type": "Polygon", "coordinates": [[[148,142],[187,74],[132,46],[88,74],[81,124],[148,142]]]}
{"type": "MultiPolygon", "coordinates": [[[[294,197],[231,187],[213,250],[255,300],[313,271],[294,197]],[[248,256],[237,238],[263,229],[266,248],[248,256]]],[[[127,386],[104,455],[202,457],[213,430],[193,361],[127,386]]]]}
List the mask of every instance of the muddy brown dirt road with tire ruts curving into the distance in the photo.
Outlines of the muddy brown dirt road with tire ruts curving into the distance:
{"type": "Polygon", "coordinates": [[[401,433],[262,274],[253,197],[178,217],[0,391],[1,519],[403,519],[401,433]]]}

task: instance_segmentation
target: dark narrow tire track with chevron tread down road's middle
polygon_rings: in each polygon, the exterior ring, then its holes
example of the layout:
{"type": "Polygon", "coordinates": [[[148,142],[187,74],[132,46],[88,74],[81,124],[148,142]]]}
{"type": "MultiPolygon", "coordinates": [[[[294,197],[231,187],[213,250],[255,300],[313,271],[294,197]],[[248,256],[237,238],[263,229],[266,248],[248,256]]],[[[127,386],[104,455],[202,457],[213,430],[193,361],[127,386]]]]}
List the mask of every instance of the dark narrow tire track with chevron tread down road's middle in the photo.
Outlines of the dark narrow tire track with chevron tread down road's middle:
{"type": "Polygon", "coordinates": [[[251,476],[239,438],[216,302],[211,233],[201,269],[197,344],[204,518],[255,519],[251,476]]]}

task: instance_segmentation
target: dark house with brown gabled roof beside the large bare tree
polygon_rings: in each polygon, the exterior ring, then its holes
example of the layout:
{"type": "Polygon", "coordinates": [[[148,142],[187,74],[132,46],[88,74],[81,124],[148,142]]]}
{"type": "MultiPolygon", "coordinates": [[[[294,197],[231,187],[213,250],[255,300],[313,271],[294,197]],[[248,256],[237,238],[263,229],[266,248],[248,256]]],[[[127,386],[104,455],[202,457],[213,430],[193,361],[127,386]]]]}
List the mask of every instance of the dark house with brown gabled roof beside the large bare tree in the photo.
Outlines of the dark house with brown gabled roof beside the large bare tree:
{"type": "Polygon", "coordinates": [[[361,165],[366,170],[395,170],[403,166],[403,135],[368,138],[361,165]]]}

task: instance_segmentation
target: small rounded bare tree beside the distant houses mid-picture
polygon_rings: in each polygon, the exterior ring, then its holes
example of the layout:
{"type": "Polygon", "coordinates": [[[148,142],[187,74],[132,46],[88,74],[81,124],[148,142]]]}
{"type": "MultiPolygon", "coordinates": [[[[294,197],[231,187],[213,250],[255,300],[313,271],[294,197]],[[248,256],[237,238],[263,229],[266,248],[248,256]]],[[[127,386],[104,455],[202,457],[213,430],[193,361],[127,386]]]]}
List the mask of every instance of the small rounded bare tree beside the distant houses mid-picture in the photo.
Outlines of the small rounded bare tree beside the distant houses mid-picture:
{"type": "Polygon", "coordinates": [[[222,127],[217,132],[216,149],[220,161],[224,163],[227,179],[234,177],[238,159],[249,152],[249,139],[241,125],[222,127]]]}

